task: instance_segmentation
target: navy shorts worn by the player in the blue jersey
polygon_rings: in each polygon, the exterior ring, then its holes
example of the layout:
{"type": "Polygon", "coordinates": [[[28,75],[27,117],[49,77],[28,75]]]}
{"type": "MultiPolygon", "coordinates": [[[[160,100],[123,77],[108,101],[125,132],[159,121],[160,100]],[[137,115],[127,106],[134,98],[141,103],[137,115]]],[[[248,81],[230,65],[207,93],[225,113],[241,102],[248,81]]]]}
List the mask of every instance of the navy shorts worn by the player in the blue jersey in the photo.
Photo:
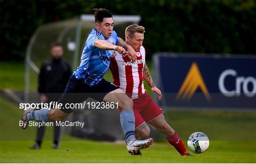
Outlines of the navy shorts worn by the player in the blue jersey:
{"type": "Polygon", "coordinates": [[[83,79],[77,79],[75,75],[71,75],[58,103],[63,104],[61,110],[64,113],[71,113],[74,109],[64,108],[66,103],[82,103],[89,97],[94,100],[102,101],[106,94],[116,89],[119,89],[119,87],[113,83],[107,82],[105,79],[102,79],[96,85],[90,86],[84,83],[83,79]]]}

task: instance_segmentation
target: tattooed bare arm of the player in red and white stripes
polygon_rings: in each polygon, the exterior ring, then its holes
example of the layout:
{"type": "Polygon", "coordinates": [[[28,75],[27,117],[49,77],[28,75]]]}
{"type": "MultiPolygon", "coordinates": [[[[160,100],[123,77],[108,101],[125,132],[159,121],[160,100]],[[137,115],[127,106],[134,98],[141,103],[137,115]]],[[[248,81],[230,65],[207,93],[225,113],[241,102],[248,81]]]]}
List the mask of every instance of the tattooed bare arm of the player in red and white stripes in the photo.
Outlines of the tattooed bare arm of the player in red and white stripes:
{"type": "Polygon", "coordinates": [[[151,90],[155,93],[157,93],[158,100],[162,100],[162,92],[155,87],[155,84],[151,78],[151,75],[149,73],[149,70],[145,64],[143,68],[143,79],[146,81],[146,83],[150,86],[151,90]]]}

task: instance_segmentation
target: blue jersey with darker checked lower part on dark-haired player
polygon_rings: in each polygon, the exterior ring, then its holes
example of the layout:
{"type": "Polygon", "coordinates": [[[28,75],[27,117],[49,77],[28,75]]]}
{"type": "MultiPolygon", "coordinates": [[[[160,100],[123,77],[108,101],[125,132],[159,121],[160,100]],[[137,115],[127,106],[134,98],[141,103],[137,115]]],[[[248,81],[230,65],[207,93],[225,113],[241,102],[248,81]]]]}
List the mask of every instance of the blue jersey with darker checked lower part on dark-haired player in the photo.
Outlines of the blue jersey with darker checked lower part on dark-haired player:
{"type": "Polygon", "coordinates": [[[119,43],[119,37],[115,31],[112,31],[111,37],[106,39],[96,29],[92,29],[82,51],[81,64],[73,73],[77,79],[83,79],[84,82],[93,86],[103,79],[107,72],[114,50],[102,50],[94,46],[96,40],[106,40],[113,45],[119,43]]]}

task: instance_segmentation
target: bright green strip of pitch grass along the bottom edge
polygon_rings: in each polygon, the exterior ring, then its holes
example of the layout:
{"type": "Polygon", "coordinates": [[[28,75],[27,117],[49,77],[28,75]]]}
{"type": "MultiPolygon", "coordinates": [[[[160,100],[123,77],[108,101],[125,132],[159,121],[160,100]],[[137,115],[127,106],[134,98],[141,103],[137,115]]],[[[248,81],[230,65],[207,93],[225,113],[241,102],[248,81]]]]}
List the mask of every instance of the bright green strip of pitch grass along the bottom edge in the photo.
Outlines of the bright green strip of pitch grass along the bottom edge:
{"type": "Polygon", "coordinates": [[[29,150],[31,141],[1,141],[1,163],[255,163],[254,142],[213,141],[201,155],[180,156],[167,144],[154,144],[142,156],[131,156],[125,145],[94,141],[63,141],[58,150],[45,142],[29,150]],[[68,149],[68,151],[67,151],[68,149]]]}

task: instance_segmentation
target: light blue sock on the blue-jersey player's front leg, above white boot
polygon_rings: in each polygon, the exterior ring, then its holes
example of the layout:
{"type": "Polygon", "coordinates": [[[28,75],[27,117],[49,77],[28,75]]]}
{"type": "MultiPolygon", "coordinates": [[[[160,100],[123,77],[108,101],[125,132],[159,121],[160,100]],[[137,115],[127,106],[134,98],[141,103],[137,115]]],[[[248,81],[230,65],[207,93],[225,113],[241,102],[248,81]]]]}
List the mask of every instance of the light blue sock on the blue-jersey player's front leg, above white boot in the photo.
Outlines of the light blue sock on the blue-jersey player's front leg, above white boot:
{"type": "Polygon", "coordinates": [[[135,118],[133,110],[124,110],[120,112],[120,122],[123,128],[126,142],[135,138],[135,118]]]}

